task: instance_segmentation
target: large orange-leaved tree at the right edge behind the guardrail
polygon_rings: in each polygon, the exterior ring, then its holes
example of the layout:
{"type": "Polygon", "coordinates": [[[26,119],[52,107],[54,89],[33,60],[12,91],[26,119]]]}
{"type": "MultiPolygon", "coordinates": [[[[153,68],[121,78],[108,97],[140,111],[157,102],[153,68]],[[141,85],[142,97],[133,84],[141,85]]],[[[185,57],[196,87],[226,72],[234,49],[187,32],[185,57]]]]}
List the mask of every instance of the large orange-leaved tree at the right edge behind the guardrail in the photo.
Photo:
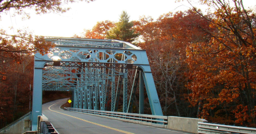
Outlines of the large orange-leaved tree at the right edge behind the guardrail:
{"type": "Polygon", "coordinates": [[[210,38],[187,47],[190,103],[199,118],[255,127],[256,18],[242,0],[201,1],[211,7],[210,38]]]}

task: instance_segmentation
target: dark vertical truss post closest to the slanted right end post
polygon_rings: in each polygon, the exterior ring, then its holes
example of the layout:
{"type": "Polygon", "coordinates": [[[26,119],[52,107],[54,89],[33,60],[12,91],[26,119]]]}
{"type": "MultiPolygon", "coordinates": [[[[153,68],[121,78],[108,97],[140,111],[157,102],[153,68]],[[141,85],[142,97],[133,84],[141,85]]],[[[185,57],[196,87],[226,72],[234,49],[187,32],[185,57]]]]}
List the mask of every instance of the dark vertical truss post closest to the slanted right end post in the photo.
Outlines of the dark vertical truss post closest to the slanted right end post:
{"type": "Polygon", "coordinates": [[[144,113],[144,80],[142,76],[142,72],[140,71],[140,101],[139,101],[139,114],[144,113]]]}

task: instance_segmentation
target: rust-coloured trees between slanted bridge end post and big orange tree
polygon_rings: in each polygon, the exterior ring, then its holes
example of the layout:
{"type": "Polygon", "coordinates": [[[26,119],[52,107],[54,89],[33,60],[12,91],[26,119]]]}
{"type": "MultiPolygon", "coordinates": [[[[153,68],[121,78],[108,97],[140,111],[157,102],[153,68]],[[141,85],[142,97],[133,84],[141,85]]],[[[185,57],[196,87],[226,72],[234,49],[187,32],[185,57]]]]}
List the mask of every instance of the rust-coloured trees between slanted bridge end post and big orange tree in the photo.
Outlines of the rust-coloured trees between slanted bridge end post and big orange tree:
{"type": "Polygon", "coordinates": [[[166,13],[154,21],[143,17],[134,22],[142,40],[138,45],[147,50],[164,115],[193,117],[195,108],[188,107],[185,72],[188,71],[186,46],[207,37],[197,24],[207,27],[201,15],[191,10],[166,13]],[[190,36],[193,35],[193,36],[190,36]]]}

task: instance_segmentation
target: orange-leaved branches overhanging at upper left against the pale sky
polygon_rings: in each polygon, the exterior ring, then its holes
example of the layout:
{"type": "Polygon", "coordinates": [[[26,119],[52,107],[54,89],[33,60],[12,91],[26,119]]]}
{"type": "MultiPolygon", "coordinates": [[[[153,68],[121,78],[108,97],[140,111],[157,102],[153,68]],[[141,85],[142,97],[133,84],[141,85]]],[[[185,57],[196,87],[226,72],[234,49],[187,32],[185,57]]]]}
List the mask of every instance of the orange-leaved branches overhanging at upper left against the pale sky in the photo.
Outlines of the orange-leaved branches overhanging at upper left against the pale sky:
{"type": "MultiPolygon", "coordinates": [[[[86,2],[93,0],[85,0],[86,2]]],[[[63,5],[68,3],[78,2],[74,0],[43,0],[43,1],[1,1],[0,2],[0,18],[1,14],[6,14],[10,9],[14,9],[15,14],[20,14],[25,18],[29,18],[27,9],[35,10],[37,14],[57,12],[63,13],[69,8],[63,5]]],[[[6,30],[0,29],[0,62],[6,63],[9,61],[20,61],[22,54],[34,54],[39,52],[45,54],[54,44],[48,42],[44,37],[34,36],[28,30],[18,30],[17,35],[7,34],[6,30]]],[[[0,81],[6,79],[6,72],[0,72],[0,81]]]]}

